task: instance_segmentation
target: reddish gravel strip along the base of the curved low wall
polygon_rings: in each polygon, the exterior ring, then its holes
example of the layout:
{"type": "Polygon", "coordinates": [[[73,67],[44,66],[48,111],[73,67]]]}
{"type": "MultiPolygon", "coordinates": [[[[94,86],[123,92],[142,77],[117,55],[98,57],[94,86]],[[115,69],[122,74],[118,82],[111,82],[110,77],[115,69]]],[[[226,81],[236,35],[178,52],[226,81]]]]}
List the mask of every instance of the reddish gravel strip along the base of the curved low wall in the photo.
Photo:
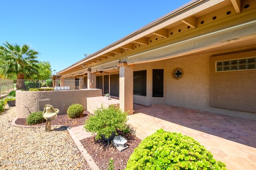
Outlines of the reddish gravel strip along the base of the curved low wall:
{"type": "MultiPolygon", "coordinates": [[[[52,121],[52,125],[66,125],[70,127],[76,127],[76,126],[81,126],[84,125],[84,121],[90,116],[89,111],[84,111],[82,117],[76,118],[76,119],[70,119],[68,115],[58,115],[56,119],[52,121]]],[[[17,125],[28,125],[26,122],[25,118],[18,118],[15,123],[17,125]]],[[[45,126],[44,123],[39,123],[36,125],[31,125],[31,126],[45,126]]]]}

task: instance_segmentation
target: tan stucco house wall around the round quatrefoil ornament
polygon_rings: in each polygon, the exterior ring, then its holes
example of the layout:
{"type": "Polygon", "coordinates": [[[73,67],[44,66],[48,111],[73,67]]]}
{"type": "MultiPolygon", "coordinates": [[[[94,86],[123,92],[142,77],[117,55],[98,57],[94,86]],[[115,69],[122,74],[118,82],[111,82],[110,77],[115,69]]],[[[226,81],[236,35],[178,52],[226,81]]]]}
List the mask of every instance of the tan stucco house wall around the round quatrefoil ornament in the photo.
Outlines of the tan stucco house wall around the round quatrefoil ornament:
{"type": "MultiPolygon", "coordinates": [[[[210,54],[136,64],[134,71],[147,70],[147,96],[134,96],[134,103],[150,106],[151,104],[167,104],[188,107],[213,113],[231,115],[256,120],[251,112],[211,107],[210,102],[210,54]],[[182,68],[181,79],[172,78],[174,68],[182,68]],[[152,97],[152,69],[164,69],[164,98],[152,97]]],[[[225,101],[222,101],[225,102],[225,101]]]]}

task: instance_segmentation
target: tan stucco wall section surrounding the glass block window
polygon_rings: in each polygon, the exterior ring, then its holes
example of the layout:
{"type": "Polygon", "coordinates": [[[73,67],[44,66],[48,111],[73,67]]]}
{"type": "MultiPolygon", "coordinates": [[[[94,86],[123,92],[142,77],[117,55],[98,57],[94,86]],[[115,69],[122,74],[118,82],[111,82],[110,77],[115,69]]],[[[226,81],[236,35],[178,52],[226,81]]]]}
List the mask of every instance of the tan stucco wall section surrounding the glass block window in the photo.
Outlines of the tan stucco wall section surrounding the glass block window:
{"type": "Polygon", "coordinates": [[[245,57],[256,51],[210,57],[210,106],[256,113],[256,70],[215,71],[216,61],[245,57]]]}

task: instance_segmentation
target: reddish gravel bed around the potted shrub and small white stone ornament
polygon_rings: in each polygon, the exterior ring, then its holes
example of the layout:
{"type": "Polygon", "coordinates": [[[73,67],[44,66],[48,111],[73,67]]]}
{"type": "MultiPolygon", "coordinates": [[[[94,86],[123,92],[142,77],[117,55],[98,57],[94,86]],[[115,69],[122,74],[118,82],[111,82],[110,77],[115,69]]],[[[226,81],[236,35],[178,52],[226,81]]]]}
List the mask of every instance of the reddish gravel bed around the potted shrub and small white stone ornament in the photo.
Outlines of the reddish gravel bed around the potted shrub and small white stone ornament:
{"type": "Polygon", "coordinates": [[[80,141],[90,156],[92,156],[97,166],[102,170],[108,169],[108,163],[111,158],[114,160],[115,170],[126,168],[130,155],[141,142],[140,139],[130,133],[119,132],[118,134],[122,135],[128,141],[127,145],[129,148],[122,152],[117,150],[112,143],[108,144],[104,140],[95,140],[95,136],[80,141]]]}

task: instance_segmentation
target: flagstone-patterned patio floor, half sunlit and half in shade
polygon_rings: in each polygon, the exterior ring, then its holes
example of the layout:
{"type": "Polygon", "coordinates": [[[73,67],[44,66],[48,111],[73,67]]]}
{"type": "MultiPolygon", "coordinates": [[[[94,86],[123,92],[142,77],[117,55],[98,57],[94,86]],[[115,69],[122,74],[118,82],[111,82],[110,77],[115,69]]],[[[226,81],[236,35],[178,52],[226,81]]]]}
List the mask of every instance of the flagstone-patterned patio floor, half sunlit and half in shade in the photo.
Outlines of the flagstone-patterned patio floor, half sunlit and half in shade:
{"type": "Polygon", "coordinates": [[[144,139],[157,129],[193,137],[228,170],[256,169],[256,121],[167,105],[137,107],[128,123],[144,139]]]}

